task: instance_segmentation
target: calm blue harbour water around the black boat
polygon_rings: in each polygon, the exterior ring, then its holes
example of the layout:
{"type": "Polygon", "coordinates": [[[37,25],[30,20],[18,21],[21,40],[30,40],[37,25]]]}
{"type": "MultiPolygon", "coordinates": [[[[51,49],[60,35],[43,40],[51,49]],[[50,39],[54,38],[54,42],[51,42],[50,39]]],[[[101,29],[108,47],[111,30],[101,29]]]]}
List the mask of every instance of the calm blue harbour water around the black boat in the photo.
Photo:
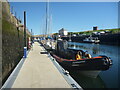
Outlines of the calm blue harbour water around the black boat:
{"type": "Polygon", "coordinates": [[[75,71],[70,71],[72,77],[83,88],[118,88],[119,46],[69,42],[69,48],[88,51],[93,57],[106,55],[113,61],[112,67],[107,71],[102,71],[97,78],[82,76],[75,71]]]}

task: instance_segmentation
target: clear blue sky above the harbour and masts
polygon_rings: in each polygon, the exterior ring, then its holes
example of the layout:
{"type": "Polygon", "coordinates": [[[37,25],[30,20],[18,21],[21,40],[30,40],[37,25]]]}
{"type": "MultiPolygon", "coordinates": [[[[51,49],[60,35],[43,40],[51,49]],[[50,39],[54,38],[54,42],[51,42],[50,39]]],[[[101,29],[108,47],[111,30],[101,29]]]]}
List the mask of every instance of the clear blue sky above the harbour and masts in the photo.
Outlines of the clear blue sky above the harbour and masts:
{"type": "MultiPolygon", "coordinates": [[[[45,27],[45,2],[11,2],[17,17],[27,12],[27,27],[41,34],[45,27]]],[[[118,27],[117,2],[50,2],[52,32],[65,28],[69,32],[118,27]]]]}

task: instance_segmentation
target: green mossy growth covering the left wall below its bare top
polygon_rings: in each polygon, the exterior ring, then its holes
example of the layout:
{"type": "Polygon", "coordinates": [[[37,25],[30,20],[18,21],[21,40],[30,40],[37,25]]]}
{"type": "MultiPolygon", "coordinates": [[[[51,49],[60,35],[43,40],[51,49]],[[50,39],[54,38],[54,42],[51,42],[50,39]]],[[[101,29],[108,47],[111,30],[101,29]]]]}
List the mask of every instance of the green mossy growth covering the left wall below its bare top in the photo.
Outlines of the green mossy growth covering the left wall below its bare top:
{"type": "MultiPolygon", "coordinates": [[[[29,35],[27,35],[28,37],[29,35]]],[[[6,18],[2,18],[2,79],[18,64],[23,57],[23,31],[6,18]]]]}

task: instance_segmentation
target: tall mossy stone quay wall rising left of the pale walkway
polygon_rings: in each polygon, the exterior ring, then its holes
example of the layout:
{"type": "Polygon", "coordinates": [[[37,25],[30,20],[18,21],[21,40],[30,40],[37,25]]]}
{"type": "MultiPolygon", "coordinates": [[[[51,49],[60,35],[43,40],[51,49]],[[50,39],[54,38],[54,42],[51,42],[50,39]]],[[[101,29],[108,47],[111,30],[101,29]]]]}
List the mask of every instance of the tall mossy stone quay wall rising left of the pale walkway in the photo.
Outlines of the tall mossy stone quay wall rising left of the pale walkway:
{"type": "Polygon", "coordinates": [[[2,84],[23,57],[23,27],[16,24],[21,23],[11,14],[9,3],[2,2],[2,84]]]}

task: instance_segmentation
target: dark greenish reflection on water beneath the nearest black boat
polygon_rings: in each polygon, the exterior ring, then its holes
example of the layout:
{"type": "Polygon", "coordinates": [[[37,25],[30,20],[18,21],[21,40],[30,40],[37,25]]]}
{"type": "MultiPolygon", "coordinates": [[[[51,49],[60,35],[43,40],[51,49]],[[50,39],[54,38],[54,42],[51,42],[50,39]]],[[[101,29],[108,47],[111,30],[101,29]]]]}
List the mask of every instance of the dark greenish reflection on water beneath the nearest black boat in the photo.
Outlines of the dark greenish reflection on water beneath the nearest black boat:
{"type": "Polygon", "coordinates": [[[105,84],[100,76],[90,78],[80,75],[78,72],[70,71],[71,76],[82,86],[82,88],[105,88],[105,84]]]}

